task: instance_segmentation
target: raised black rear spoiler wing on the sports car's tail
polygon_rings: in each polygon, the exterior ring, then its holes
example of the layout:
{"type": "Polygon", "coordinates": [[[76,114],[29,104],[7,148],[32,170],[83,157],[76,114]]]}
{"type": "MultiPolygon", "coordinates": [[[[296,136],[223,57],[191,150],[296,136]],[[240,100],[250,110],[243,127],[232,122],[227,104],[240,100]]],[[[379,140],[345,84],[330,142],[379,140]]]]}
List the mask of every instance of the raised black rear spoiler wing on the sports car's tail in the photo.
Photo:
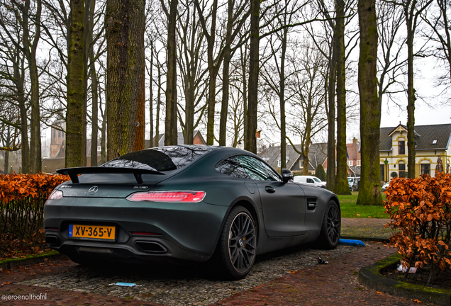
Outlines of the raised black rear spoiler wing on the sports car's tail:
{"type": "Polygon", "coordinates": [[[138,183],[143,183],[143,174],[165,175],[162,172],[148,169],[115,168],[115,167],[77,167],[59,169],[57,173],[70,176],[72,183],[79,183],[79,174],[133,174],[138,183]]]}

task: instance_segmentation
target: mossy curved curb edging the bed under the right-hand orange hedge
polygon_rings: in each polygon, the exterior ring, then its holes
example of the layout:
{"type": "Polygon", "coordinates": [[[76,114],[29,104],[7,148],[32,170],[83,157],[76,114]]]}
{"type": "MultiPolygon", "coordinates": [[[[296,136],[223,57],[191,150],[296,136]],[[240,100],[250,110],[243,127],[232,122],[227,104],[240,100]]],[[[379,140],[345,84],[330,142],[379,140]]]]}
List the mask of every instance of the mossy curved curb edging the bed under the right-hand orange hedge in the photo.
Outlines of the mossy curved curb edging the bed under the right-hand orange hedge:
{"type": "Polygon", "coordinates": [[[358,278],[359,283],[373,290],[382,291],[396,297],[406,297],[442,306],[451,305],[451,290],[413,285],[382,276],[382,271],[393,268],[400,260],[401,256],[394,254],[386,259],[377,261],[377,263],[361,268],[358,278]]]}

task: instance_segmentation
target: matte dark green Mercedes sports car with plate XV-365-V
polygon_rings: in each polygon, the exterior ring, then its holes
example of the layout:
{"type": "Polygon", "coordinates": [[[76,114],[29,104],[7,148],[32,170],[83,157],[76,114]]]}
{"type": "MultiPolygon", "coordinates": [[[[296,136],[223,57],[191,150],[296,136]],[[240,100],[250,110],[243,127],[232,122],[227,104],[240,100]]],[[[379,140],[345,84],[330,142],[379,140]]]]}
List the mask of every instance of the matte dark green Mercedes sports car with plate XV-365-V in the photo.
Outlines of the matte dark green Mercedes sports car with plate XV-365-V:
{"type": "Polygon", "coordinates": [[[257,254],[340,238],[334,193],[242,149],[156,147],[58,172],[71,181],[45,203],[45,240],[77,263],[211,260],[236,279],[257,254]]]}

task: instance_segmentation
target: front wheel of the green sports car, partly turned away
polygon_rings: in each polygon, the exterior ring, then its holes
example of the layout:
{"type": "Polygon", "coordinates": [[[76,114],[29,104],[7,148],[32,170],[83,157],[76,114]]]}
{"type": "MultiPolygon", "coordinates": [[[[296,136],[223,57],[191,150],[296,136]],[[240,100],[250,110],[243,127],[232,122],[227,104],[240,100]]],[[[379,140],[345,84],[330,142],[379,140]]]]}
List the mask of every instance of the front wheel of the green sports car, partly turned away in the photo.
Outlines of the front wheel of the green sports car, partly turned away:
{"type": "Polygon", "coordinates": [[[318,246],[322,249],[335,249],[340,239],[341,213],[335,200],[330,200],[324,211],[318,246]]]}

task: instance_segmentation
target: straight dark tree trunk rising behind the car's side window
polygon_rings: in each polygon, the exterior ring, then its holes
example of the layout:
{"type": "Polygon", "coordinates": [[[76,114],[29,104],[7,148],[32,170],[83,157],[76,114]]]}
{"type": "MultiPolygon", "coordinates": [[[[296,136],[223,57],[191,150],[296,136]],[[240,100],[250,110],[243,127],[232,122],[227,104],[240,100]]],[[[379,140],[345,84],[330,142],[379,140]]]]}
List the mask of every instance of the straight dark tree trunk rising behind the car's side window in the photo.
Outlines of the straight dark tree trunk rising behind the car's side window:
{"type": "Polygon", "coordinates": [[[249,95],[247,99],[247,132],[245,149],[257,154],[257,104],[260,45],[260,0],[250,0],[249,95]]]}

